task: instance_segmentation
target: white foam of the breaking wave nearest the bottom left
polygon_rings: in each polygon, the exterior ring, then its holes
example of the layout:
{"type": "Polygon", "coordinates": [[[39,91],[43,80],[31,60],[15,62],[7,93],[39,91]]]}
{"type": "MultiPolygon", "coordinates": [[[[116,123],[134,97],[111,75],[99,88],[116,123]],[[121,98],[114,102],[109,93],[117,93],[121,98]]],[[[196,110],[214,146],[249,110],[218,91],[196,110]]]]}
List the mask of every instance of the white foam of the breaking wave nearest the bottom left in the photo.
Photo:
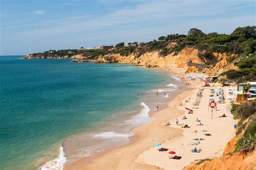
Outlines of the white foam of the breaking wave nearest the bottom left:
{"type": "Polygon", "coordinates": [[[62,145],[59,147],[59,155],[58,158],[55,160],[51,160],[44,164],[43,166],[39,167],[41,170],[62,170],[64,164],[66,162],[65,152],[62,145]]]}

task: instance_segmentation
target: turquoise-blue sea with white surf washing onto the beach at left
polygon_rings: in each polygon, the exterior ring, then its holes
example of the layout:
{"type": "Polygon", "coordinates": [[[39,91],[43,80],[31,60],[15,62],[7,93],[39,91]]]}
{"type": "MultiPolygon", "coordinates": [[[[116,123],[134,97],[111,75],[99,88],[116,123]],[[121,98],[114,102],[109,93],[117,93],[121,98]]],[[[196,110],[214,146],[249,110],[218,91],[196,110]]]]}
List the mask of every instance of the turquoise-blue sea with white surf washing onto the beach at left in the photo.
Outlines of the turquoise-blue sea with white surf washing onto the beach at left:
{"type": "Polygon", "coordinates": [[[183,86],[157,69],[22,57],[0,56],[1,169],[62,169],[123,145],[183,86]]]}

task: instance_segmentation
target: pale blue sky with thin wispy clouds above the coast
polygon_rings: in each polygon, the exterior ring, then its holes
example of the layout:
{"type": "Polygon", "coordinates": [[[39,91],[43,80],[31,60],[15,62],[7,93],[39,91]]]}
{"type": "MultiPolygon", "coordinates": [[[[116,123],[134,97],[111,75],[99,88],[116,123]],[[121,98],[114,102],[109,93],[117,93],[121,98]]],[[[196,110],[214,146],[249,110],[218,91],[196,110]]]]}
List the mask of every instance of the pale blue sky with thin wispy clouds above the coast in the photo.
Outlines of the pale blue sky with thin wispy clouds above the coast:
{"type": "Polygon", "coordinates": [[[147,42],[167,34],[230,34],[255,25],[254,0],[0,0],[0,55],[147,42]]]}

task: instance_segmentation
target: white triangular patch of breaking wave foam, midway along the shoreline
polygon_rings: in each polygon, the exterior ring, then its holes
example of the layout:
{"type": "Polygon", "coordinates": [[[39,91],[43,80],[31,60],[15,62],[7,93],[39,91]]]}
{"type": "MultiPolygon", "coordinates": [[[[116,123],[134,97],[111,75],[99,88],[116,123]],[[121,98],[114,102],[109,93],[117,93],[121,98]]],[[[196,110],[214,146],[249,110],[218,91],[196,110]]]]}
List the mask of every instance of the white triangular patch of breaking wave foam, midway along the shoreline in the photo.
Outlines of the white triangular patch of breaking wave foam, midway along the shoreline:
{"type": "Polygon", "coordinates": [[[144,108],[138,115],[132,116],[131,119],[125,121],[125,123],[133,124],[133,125],[142,125],[146,122],[152,121],[152,118],[149,117],[150,108],[145,103],[140,103],[144,108]]]}

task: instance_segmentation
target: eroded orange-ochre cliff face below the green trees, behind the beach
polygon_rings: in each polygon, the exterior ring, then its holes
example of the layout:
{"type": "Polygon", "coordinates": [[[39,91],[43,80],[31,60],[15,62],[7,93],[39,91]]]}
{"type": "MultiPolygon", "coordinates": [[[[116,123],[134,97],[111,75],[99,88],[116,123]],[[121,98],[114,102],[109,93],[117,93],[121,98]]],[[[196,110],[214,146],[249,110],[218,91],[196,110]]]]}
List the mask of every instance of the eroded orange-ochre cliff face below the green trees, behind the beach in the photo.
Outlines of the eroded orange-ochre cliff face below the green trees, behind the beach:
{"type": "MultiPolygon", "coordinates": [[[[174,48],[177,46],[176,42],[170,42],[167,48],[174,48]]],[[[29,54],[26,55],[24,59],[59,59],[59,58],[74,58],[73,62],[97,62],[97,63],[130,63],[137,66],[145,67],[156,67],[156,68],[183,68],[187,73],[198,73],[203,72],[207,75],[219,75],[226,72],[229,69],[239,69],[234,66],[233,63],[228,63],[226,53],[213,53],[213,56],[217,58],[217,63],[214,66],[206,68],[206,59],[200,59],[198,54],[199,51],[196,48],[184,48],[180,52],[173,52],[166,56],[160,55],[161,51],[151,51],[146,52],[139,57],[138,53],[142,50],[141,47],[137,47],[133,53],[127,56],[122,56],[120,53],[109,53],[106,55],[100,55],[95,57],[85,57],[83,54],[78,55],[37,55],[29,54]]],[[[144,49],[145,50],[145,49],[144,49]]],[[[206,53],[203,51],[201,53],[206,53]]],[[[237,57],[237,55],[232,54],[230,57],[237,57]]]]}

